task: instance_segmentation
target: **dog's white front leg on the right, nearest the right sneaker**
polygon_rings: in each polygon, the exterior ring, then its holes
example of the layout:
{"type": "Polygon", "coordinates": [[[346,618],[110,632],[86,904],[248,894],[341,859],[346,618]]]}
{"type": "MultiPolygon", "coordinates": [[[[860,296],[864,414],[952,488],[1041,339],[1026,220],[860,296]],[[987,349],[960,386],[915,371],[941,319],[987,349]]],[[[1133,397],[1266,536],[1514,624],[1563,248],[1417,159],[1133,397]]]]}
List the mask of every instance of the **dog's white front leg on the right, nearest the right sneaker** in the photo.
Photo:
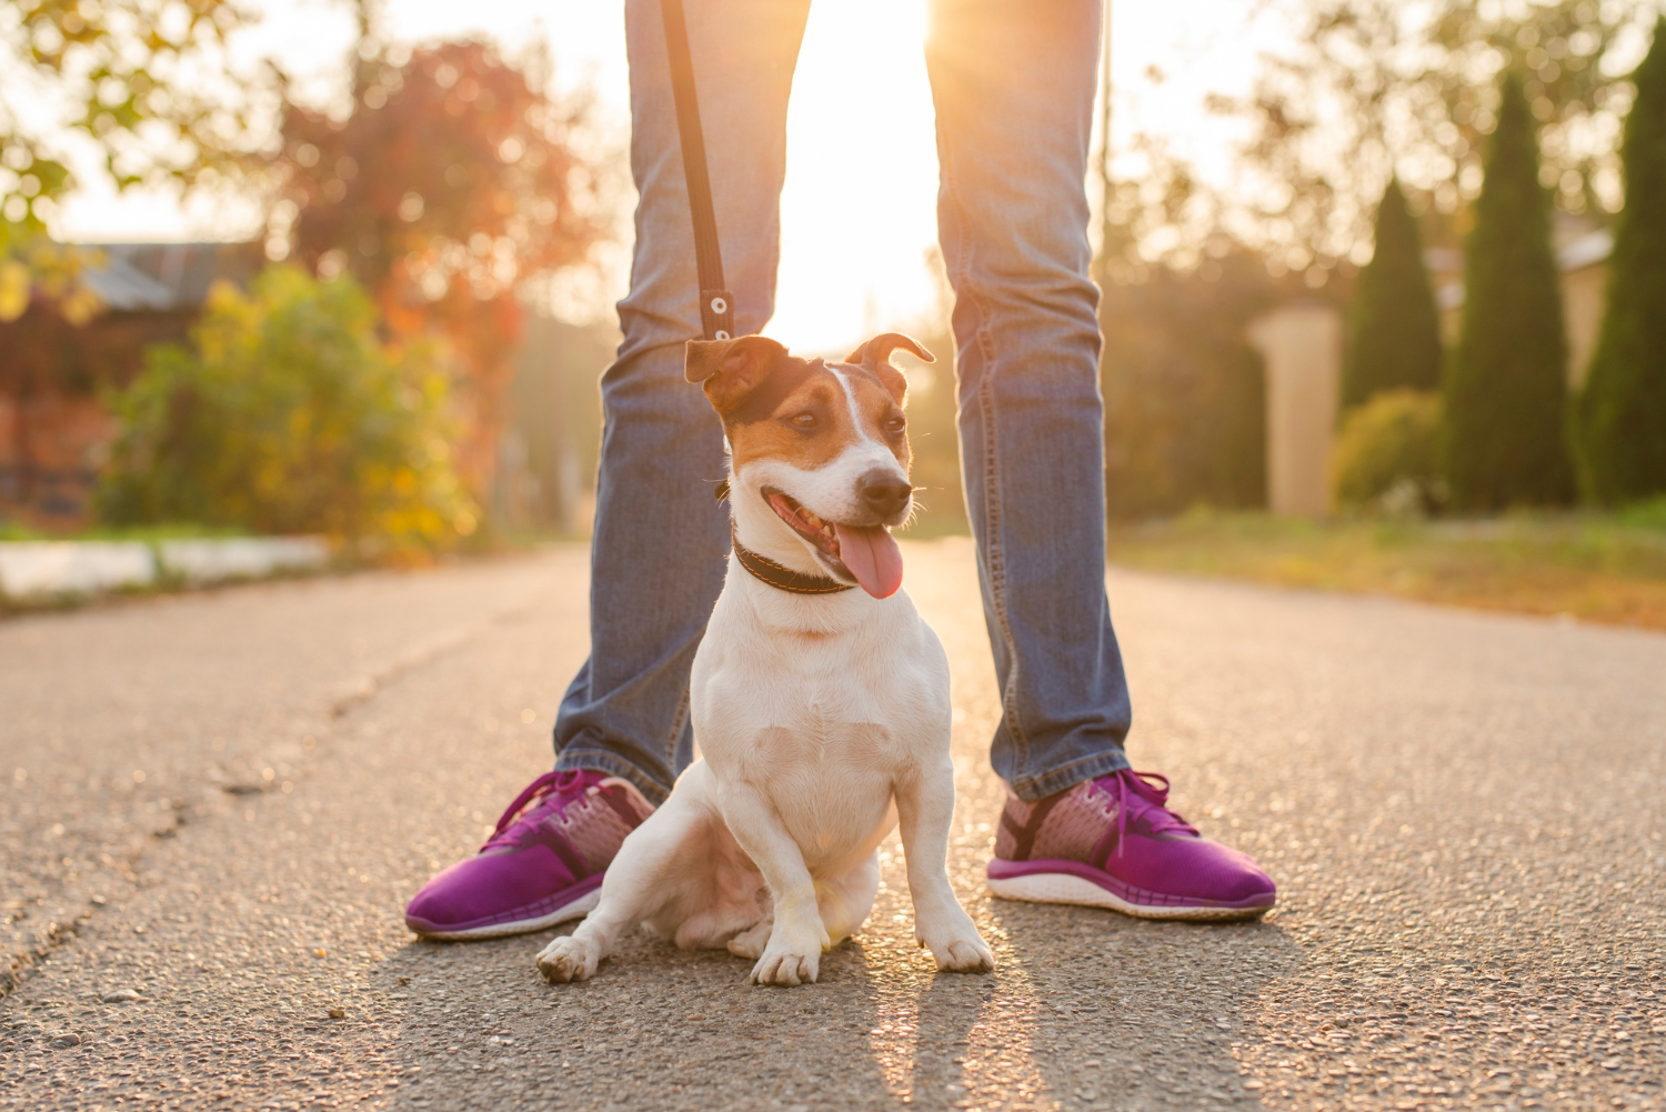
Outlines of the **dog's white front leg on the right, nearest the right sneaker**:
{"type": "Polygon", "coordinates": [[[948,832],[955,820],[955,765],[915,770],[896,784],[896,824],[915,900],[915,940],[931,949],[938,969],[985,974],[995,955],[948,882],[948,832]]]}

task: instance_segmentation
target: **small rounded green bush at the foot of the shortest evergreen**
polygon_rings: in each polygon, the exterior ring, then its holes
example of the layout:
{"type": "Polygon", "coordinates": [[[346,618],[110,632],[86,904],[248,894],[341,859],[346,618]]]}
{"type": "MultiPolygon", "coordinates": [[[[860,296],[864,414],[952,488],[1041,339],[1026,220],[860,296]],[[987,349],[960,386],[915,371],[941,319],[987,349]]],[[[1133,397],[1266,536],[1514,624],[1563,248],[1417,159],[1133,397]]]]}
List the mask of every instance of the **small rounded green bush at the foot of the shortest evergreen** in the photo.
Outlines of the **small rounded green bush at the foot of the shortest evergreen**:
{"type": "Polygon", "coordinates": [[[1384,390],[1343,418],[1331,452],[1341,505],[1388,512],[1438,508],[1441,398],[1431,390],[1384,390]]]}

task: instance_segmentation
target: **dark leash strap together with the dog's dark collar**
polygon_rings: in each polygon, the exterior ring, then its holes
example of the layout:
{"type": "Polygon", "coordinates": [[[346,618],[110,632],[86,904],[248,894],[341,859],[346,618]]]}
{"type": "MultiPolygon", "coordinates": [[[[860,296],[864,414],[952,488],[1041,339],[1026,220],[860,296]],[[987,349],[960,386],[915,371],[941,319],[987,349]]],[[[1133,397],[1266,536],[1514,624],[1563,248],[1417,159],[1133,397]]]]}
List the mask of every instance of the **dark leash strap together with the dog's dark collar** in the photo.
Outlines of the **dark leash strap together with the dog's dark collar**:
{"type": "MultiPolygon", "coordinates": [[[[671,65],[671,100],[676,103],[676,138],[683,150],[683,178],[688,183],[688,215],[695,225],[695,270],[700,275],[700,328],[706,340],[735,337],[735,295],[723,282],[723,252],[718,247],[718,218],[711,210],[711,177],[706,170],[706,140],[700,130],[700,98],[695,95],[695,60],[688,52],[688,22],[683,0],[660,0],[665,20],[665,52],[671,65]]],[[[728,497],[725,478],[713,492],[728,497]]],[[[836,595],[848,584],[825,575],[805,575],[758,555],[733,537],[735,559],[753,577],[793,595],[836,595]]]]}

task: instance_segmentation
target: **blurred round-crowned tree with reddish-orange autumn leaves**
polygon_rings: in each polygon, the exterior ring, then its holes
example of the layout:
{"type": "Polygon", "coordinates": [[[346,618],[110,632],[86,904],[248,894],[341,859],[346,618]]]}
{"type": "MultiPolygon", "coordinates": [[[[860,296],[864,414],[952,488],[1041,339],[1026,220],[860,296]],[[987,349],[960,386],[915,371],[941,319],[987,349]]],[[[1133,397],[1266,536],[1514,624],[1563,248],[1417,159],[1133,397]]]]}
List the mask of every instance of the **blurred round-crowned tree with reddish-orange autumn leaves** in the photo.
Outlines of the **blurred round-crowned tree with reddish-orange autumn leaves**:
{"type": "MultiPolygon", "coordinates": [[[[367,38],[367,42],[372,42],[367,38]]],[[[290,103],[282,170],[295,250],[322,275],[357,277],[395,335],[438,328],[465,372],[460,465],[483,488],[501,393],[538,277],[581,262],[601,233],[591,167],[541,75],[478,42],[358,67],[345,120],[290,103]]]]}

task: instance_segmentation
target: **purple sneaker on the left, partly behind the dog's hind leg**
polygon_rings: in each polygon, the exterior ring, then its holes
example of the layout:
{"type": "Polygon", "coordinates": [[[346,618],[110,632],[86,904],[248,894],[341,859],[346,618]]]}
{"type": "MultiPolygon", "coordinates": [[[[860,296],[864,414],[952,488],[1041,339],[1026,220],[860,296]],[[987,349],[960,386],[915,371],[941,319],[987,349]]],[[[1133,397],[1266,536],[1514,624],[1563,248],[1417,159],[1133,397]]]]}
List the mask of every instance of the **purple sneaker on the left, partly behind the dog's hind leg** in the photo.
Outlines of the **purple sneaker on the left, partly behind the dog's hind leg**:
{"type": "Polygon", "coordinates": [[[405,925],[426,939],[493,939],[588,915],[620,842],[651,812],[626,780],[546,772],[510,804],[480,854],[423,885],[405,925]]]}

